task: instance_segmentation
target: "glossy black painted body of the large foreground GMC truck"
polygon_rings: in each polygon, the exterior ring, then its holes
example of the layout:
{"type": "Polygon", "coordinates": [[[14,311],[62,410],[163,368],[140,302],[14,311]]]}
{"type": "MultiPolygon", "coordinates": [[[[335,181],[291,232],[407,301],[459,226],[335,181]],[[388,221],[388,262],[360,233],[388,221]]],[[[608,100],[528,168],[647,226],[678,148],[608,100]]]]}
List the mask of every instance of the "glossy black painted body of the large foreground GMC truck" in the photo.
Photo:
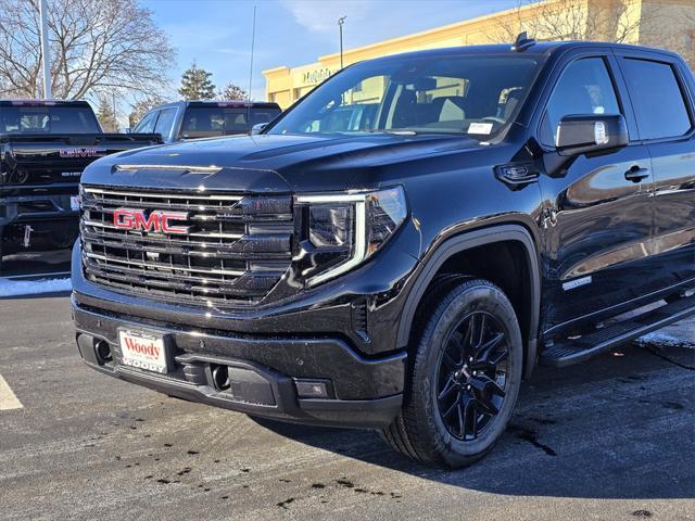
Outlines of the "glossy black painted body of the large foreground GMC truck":
{"type": "MultiPolygon", "coordinates": [[[[513,51],[506,46],[490,46],[420,54],[507,52],[513,51]]],[[[364,265],[312,289],[281,282],[252,309],[167,304],[91,283],[83,272],[78,243],[73,304],[77,328],[85,333],[83,356],[112,376],[190,399],[296,421],[375,427],[388,424],[399,410],[417,305],[453,255],[501,242],[516,246],[514,262],[522,274],[516,307],[527,374],[554,338],[692,285],[695,130],[677,140],[643,141],[619,60],[621,53],[632,53],[672,63],[692,105],[695,85],[686,65],[670,53],[627,46],[539,43],[526,52],[542,63],[540,74],[515,120],[488,143],[464,136],[262,134],[150,148],[91,165],[85,186],[170,192],[204,186],[233,193],[299,194],[400,185],[409,215],[364,265]],[[584,56],[602,56],[610,66],[630,143],[601,155],[560,157],[539,144],[540,122],[563,69],[584,56]],[[124,163],[222,169],[204,175],[114,168],[124,163]],[[505,182],[498,167],[509,164],[527,165],[535,175],[505,182]],[[649,170],[642,182],[626,179],[635,166],[649,170]],[[591,283],[563,287],[586,277],[591,283]],[[356,309],[363,306],[367,334],[355,325],[356,309]],[[267,378],[282,399],[273,407],[250,406],[215,394],[203,377],[193,384],[98,364],[89,342],[104,339],[115,345],[124,325],[169,334],[180,355],[257,365],[271,373],[267,378]],[[201,338],[210,342],[191,340],[201,338]],[[328,379],[336,394],[331,399],[298,399],[283,383],[288,378],[328,379]]],[[[482,257],[489,268],[505,269],[495,262],[492,255],[482,257]]]]}

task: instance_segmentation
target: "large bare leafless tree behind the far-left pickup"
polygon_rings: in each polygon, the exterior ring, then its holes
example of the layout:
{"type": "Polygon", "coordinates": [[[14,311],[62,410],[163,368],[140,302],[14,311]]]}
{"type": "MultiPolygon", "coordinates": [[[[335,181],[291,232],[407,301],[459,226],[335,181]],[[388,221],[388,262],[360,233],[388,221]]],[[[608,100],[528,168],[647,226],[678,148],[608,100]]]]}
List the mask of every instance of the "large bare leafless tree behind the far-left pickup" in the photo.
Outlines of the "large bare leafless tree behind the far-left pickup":
{"type": "MultiPolygon", "coordinates": [[[[136,0],[49,0],[48,8],[56,98],[163,89],[175,51],[136,0]]],[[[40,94],[40,64],[37,2],[0,0],[0,96],[40,94]]]]}

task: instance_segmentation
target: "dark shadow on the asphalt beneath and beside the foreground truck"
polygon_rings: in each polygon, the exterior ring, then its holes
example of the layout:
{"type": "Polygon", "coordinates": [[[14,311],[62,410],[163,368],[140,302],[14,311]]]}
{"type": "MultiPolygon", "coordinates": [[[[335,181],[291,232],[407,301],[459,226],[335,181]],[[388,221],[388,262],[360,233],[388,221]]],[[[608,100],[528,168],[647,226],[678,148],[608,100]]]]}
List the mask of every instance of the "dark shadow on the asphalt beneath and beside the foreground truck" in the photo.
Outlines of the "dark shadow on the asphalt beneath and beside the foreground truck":
{"type": "MultiPolygon", "coordinates": [[[[540,368],[495,449],[446,470],[376,432],[256,420],[296,442],[443,484],[503,495],[695,497],[695,350],[641,343],[566,369],[540,368]],[[680,364],[680,365],[679,365],[680,364]]],[[[355,483],[354,486],[359,486],[355,483]]]]}

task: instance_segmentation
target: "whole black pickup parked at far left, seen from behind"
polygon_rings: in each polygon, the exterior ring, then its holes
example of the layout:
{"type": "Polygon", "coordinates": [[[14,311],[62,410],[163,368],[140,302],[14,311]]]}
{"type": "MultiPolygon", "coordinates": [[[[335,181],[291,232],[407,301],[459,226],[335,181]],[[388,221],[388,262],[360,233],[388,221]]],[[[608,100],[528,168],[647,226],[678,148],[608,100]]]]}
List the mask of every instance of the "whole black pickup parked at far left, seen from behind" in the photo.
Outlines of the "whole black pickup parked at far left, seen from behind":
{"type": "Polygon", "coordinates": [[[3,255],[72,247],[89,163],[159,142],[104,134],[86,101],[0,100],[0,275],[3,255]]]}

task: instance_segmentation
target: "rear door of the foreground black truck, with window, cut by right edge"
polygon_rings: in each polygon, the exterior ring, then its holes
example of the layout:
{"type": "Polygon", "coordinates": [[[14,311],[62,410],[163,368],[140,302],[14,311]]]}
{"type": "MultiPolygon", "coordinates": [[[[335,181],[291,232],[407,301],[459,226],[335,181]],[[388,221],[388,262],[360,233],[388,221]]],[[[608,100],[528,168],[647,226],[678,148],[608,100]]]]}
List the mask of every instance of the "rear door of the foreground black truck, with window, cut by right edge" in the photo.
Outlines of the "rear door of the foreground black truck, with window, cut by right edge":
{"type": "Polygon", "coordinates": [[[618,63],[648,140],[655,193],[652,291],[695,278],[695,141],[686,75],[671,56],[622,51],[618,63]]]}

